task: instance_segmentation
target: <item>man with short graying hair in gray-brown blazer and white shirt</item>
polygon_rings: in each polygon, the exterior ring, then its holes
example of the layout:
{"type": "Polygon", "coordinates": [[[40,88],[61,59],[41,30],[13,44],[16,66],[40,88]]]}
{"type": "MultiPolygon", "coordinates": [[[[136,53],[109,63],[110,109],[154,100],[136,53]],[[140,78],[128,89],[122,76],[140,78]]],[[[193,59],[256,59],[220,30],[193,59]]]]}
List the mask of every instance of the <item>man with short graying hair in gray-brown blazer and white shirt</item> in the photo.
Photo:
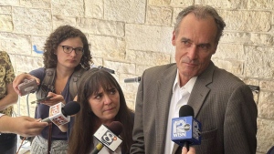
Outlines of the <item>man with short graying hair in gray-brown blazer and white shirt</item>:
{"type": "Polygon", "coordinates": [[[210,6],[191,5],[176,19],[175,64],[142,74],[135,106],[131,153],[181,153],[170,139],[171,118],[184,104],[202,123],[197,154],[255,154],[258,110],[250,88],[211,61],[223,29],[210,6]],[[185,94],[182,94],[186,91],[185,94]],[[180,105],[180,106],[178,106],[180,105]]]}

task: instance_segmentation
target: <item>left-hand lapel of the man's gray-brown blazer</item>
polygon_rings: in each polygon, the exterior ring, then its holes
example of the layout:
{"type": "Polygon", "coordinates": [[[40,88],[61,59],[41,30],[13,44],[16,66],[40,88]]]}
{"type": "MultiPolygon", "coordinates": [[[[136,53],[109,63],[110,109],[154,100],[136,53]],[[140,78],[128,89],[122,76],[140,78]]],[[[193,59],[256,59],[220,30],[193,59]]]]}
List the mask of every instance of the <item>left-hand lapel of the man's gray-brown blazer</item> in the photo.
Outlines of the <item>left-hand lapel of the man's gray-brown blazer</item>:
{"type": "Polygon", "coordinates": [[[177,67],[173,65],[169,69],[163,72],[161,79],[157,81],[157,97],[155,98],[157,103],[156,112],[156,141],[158,153],[163,153],[165,145],[166,124],[168,121],[170,101],[173,93],[174,79],[176,76],[177,67]]]}

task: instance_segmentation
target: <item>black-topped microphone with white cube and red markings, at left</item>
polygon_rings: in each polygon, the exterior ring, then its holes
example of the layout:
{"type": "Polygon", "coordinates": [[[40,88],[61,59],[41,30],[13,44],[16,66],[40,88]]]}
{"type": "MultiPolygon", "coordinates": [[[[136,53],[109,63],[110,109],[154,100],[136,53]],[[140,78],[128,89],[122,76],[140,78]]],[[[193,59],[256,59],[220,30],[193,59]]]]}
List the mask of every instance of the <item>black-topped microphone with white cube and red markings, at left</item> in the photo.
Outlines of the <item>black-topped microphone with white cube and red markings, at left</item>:
{"type": "Polygon", "coordinates": [[[80,106],[76,101],[68,102],[64,105],[62,102],[49,108],[48,118],[42,122],[53,122],[55,125],[64,125],[70,121],[70,116],[79,112],[80,106]]]}

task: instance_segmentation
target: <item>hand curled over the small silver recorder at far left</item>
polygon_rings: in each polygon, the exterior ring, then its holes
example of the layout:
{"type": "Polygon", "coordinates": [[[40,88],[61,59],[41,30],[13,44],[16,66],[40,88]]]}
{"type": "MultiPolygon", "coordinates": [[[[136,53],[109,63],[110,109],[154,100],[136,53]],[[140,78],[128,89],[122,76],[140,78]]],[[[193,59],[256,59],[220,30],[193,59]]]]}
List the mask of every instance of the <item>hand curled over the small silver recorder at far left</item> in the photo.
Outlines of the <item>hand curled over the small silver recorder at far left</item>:
{"type": "Polygon", "coordinates": [[[31,76],[28,73],[22,73],[22,74],[16,76],[16,78],[13,81],[13,87],[19,96],[22,96],[22,94],[21,94],[20,90],[18,89],[18,85],[23,83],[24,79],[32,79],[32,78],[34,78],[37,81],[37,85],[40,85],[40,79],[37,77],[31,76]]]}

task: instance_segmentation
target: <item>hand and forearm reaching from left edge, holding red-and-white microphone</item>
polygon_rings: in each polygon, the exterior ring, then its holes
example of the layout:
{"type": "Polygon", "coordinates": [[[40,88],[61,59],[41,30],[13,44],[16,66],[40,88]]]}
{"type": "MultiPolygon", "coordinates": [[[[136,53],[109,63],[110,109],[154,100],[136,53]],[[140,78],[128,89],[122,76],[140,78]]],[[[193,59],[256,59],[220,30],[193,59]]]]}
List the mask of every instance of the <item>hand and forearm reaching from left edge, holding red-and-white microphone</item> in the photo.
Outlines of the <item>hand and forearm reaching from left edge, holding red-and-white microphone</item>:
{"type": "Polygon", "coordinates": [[[26,116],[11,118],[3,116],[1,119],[1,132],[16,133],[23,137],[32,137],[41,133],[47,127],[47,122],[40,122],[40,119],[26,116]]]}

